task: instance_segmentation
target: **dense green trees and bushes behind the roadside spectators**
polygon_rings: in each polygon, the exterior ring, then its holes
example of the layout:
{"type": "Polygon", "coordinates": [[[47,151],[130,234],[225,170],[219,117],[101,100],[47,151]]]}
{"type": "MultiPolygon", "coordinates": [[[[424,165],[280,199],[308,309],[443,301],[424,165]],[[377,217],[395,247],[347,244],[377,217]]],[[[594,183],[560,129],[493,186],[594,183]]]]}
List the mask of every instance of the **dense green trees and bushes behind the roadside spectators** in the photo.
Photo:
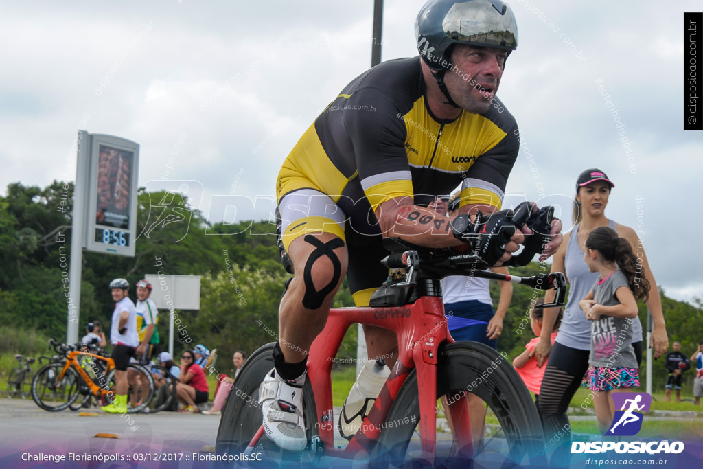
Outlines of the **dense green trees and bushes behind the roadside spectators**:
{"type": "MultiPolygon", "coordinates": [[[[67,319],[65,278],[70,259],[72,183],[53,181],[45,188],[8,185],[0,197],[0,318],[4,326],[64,338],[67,319]]],[[[227,357],[238,349],[251,353],[276,340],[278,302],[289,277],[280,264],[276,227],[271,221],[212,223],[188,206],[180,193],[138,193],[136,253],[134,257],[83,252],[80,330],[98,319],[109,327],[114,304],[108,287],[112,278],[127,278],[130,285],[145,274],[200,275],[200,310],[176,311],[188,328],[192,342],[217,347],[227,357]],[[234,234],[231,234],[234,233],[234,234]],[[155,262],[159,259],[159,262],[155,262]],[[157,265],[159,264],[159,265],[157,265]]],[[[548,271],[535,262],[511,273],[530,276],[548,271]]],[[[130,295],[136,299],[134,287],[130,295]]],[[[498,299],[498,285],[491,281],[491,295],[498,299]]],[[[516,356],[533,337],[529,304],[541,293],[515,285],[503,323],[498,349],[516,356]]],[[[671,342],[680,340],[690,354],[703,340],[703,302],[678,302],[664,295],[662,302],[671,342]],[[689,352],[690,350],[690,352],[689,352]]],[[[346,281],[335,297],[335,306],[352,306],[346,281]]],[[[168,311],[160,311],[162,349],[168,338],[168,311]]],[[[646,328],[646,307],[640,304],[646,328]]],[[[21,333],[21,332],[18,332],[21,333]]],[[[176,338],[179,335],[176,333],[176,338]]],[[[4,350],[0,345],[0,352],[4,350]]],[[[347,333],[339,358],[356,355],[356,328],[347,333]]],[[[643,367],[644,368],[644,367],[643,367]]],[[[654,362],[656,376],[666,376],[664,361],[654,362]]],[[[662,386],[663,386],[662,378],[662,386]]],[[[658,386],[657,378],[654,383],[658,386]]]]}

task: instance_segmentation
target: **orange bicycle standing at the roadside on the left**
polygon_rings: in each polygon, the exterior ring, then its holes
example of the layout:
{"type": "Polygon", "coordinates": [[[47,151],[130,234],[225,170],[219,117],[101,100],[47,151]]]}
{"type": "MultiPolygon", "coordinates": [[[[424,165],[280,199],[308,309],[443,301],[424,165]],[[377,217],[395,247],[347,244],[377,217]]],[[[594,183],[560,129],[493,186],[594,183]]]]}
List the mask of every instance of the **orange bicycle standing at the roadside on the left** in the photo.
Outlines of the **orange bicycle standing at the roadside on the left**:
{"type": "MultiPolygon", "coordinates": [[[[32,380],[32,399],[46,411],[63,411],[75,404],[79,397],[93,396],[98,401],[111,401],[115,397],[115,362],[108,356],[94,354],[78,345],[66,345],[49,339],[49,343],[63,361],[53,361],[39,368],[32,380]],[[79,357],[84,357],[81,364],[79,357]]],[[[134,376],[129,385],[129,397],[135,406],[128,406],[127,413],[146,408],[153,397],[154,380],[143,366],[130,363],[127,370],[134,376]],[[134,398],[134,399],[131,399],[134,398]]]]}

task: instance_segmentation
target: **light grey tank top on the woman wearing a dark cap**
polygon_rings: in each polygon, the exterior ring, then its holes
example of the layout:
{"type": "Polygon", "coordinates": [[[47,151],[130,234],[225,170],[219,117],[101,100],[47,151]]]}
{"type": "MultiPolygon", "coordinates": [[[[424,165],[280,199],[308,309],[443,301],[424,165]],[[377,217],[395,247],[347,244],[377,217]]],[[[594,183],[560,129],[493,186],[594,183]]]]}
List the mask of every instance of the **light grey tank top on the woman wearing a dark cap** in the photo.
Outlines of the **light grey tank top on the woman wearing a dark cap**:
{"type": "MultiPolygon", "coordinates": [[[[588,270],[586,262],[583,261],[583,250],[579,246],[579,227],[577,224],[572,229],[567,245],[567,254],[564,258],[565,274],[569,280],[569,300],[564,309],[564,319],[559,326],[557,342],[572,349],[591,349],[591,321],[586,319],[583,311],[579,307],[579,301],[583,300],[593,287],[593,283],[598,281],[598,272],[588,270]]],[[[615,221],[608,220],[608,227],[615,229],[615,221]]],[[[642,323],[639,318],[633,320],[632,342],[642,340],[642,323]]]]}

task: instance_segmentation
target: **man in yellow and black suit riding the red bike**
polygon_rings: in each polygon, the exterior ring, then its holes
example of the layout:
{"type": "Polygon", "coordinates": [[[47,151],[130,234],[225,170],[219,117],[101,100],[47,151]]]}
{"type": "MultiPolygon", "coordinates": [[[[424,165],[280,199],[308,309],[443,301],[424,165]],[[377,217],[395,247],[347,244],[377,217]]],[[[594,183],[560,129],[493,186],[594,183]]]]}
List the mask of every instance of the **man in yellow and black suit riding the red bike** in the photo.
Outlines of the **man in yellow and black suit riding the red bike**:
{"type": "MultiPolygon", "coordinates": [[[[464,233],[489,266],[524,242],[501,209],[517,157],[515,119],[496,97],[517,47],[498,0],[431,0],[415,25],[420,57],[389,60],[354,79],[307,129],[278,174],[278,230],[295,276],[280,303],[275,367],[259,388],[264,429],[285,449],[307,443],[307,353],[346,273],[357,306],[387,278],[384,236],[431,248],[465,243],[426,208],[461,184],[464,233]],[[481,212],[481,215],[477,213],[481,212]],[[478,236],[477,233],[484,233],[478,236]]],[[[543,258],[561,242],[553,222],[543,258]]],[[[369,358],[397,357],[392,331],[364,326],[369,358]]],[[[387,359],[392,368],[395,358],[387,359]]]]}

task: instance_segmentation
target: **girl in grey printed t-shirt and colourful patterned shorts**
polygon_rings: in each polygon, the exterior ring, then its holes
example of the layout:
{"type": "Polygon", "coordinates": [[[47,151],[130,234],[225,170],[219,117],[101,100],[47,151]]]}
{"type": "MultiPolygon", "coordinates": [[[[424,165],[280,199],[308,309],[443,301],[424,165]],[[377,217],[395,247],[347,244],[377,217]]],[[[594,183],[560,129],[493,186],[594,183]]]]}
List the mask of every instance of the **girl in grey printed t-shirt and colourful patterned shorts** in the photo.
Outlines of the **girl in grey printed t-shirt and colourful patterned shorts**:
{"type": "Polygon", "coordinates": [[[605,434],[613,420],[610,392],[639,387],[640,378],[632,347],[632,322],[637,300],[650,289],[630,243],[617,232],[601,226],[586,239],[583,260],[600,278],[579,306],[591,321],[591,355],[583,384],[593,391],[598,429],[605,434]]]}

